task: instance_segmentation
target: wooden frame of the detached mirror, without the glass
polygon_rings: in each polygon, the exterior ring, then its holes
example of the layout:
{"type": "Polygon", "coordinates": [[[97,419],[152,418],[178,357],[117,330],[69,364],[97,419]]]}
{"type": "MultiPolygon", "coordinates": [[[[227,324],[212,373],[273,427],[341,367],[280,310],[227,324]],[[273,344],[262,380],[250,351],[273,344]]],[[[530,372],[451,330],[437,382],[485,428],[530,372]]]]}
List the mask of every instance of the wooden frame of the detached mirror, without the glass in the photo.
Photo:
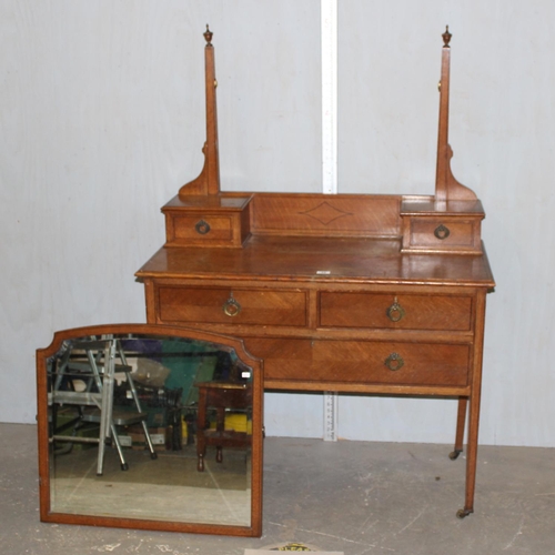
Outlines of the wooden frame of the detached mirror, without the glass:
{"type": "Polygon", "coordinates": [[[40,519],[47,523],[110,526],[119,528],[151,529],[163,532],[186,532],[196,534],[220,534],[230,536],[254,536],[262,534],[262,414],[263,414],[263,366],[262,361],[250,355],[241,340],[216,333],[202,332],[188,327],[151,324],[104,324],[75,327],[56,332],[52,343],[37,350],[37,396],[38,396],[38,443],[39,443],[39,494],[40,519]],[[51,509],[50,490],[50,448],[48,416],[48,375],[47,360],[59,352],[64,340],[105,334],[140,334],[169,336],[183,340],[205,341],[231,347],[238,359],[252,369],[252,468],[251,468],[251,522],[250,526],[229,524],[199,524],[165,522],[155,519],[90,516],[57,513],[51,509]]]}

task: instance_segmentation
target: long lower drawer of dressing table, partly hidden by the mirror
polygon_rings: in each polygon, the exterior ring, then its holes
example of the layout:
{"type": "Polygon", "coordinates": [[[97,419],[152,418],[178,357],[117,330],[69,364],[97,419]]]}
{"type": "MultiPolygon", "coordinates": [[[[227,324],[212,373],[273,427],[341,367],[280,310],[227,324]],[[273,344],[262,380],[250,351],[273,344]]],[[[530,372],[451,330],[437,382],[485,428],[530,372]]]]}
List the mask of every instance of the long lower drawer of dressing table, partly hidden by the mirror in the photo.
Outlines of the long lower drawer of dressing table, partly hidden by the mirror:
{"type": "Polygon", "coordinates": [[[383,385],[467,385],[470,345],[373,341],[244,340],[264,380],[383,385]]]}

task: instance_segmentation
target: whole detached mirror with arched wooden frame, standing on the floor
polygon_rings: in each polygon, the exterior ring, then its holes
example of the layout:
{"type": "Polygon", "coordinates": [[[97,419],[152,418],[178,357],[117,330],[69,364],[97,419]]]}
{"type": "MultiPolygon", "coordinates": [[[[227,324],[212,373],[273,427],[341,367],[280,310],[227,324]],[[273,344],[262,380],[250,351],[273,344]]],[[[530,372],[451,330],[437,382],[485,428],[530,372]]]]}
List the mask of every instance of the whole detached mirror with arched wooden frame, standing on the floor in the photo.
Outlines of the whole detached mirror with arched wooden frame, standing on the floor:
{"type": "Polygon", "coordinates": [[[38,351],[41,517],[261,533],[261,367],[230,337],[59,332],[38,351]]]}

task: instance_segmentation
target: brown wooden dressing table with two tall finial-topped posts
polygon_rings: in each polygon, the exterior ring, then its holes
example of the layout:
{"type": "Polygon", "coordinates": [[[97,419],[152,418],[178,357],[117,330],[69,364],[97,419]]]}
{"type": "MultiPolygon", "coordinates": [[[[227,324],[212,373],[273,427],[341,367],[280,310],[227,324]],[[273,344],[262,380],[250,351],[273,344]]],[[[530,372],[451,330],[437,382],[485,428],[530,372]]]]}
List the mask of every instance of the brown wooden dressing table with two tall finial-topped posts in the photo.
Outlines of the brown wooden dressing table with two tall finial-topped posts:
{"type": "Polygon", "coordinates": [[[162,212],[167,242],[137,273],[151,324],[241,337],[264,387],[458,398],[473,512],[486,293],[485,214],[451,172],[443,34],[435,195],[220,190],[214,49],[206,29],[204,168],[162,212]]]}

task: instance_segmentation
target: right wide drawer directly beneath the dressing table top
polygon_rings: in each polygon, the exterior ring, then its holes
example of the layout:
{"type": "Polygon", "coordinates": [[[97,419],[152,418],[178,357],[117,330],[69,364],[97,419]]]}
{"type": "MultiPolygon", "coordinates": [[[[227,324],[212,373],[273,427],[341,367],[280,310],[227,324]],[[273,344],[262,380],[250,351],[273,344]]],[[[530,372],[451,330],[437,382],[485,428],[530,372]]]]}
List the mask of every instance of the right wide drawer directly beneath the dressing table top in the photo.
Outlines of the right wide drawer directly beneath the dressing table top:
{"type": "Polygon", "coordinates": [[[470,331],[472,296],[324,291],[320,326],[470,331]]]}

